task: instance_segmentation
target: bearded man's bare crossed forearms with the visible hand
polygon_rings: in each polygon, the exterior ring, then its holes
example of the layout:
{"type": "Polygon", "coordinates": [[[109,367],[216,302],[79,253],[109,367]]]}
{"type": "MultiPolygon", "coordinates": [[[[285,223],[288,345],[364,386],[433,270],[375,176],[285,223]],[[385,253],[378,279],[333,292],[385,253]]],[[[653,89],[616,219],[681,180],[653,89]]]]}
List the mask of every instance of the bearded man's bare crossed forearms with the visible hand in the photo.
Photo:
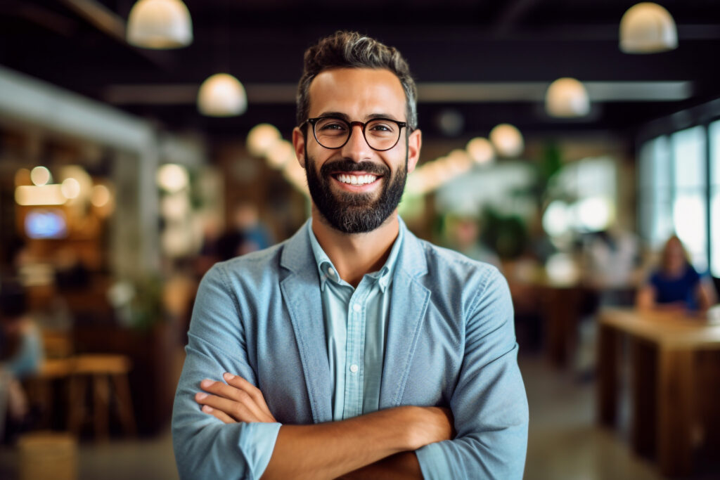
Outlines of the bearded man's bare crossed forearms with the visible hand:
{"type": "MultiPolygon", "coordinates": [[[[201,382],[205,391],[195,400],[203,412],[226,424],[276,422],[259,389],[230,373],[223,379],[227,384],[201,382]]],[[[450,440],[451,430],[449,410],[438,407],[397,407],[341,422],[284,425],[263,478],[334,479],[361,468],[355,474],[422,478],[413,450],[450,440]]]]}

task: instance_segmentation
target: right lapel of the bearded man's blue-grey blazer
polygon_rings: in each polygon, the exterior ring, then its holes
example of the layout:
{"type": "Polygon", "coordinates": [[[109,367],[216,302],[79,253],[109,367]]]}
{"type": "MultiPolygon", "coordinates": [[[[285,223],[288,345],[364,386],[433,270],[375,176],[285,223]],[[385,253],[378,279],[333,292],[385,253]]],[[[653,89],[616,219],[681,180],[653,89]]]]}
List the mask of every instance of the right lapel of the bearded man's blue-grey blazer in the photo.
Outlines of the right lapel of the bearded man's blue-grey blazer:
{"type": "Polygon", "coordinates": [[[430,302],[430,290],[417,280],[418,276],[427,273],[423,247],[402,220],[400,228],[405,229],[405,239],[392,278],[390,318],[387,321],[380,382],[380,408],[400,405],[410,373],[410,361],[430,302]]]}

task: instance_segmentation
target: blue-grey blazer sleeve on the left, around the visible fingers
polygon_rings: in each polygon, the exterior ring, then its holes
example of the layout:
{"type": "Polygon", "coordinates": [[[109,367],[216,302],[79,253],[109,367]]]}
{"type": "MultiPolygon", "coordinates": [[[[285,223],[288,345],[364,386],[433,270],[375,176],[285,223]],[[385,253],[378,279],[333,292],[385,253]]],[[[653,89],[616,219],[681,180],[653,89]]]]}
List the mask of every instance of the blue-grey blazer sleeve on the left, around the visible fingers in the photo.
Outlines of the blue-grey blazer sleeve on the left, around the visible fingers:
{"type": "Polygon", "coordinates": [[[186,359],[175,394],[173,448],[181,479],[258,479],[267,467],[279,423],[225,424],[200,410],[200,381],[235,373],[257,384],[248,364],[238,299],[224,264],[202,279],[192,312],[186,359]]]}

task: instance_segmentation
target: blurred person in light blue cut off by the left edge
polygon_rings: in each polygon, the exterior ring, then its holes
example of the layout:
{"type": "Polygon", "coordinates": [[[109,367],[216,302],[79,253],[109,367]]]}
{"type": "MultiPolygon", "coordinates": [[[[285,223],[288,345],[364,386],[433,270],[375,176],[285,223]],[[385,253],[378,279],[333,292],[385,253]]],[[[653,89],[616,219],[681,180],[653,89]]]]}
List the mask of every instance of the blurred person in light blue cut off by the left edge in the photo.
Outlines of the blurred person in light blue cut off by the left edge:
{"type": "Polygon", "coordinates": [[[27,314],[19,284],[0,286],[0,438],[23,429],[30,412],[20,381],[37,373],[42,362],[40,330],[27,314]]]}

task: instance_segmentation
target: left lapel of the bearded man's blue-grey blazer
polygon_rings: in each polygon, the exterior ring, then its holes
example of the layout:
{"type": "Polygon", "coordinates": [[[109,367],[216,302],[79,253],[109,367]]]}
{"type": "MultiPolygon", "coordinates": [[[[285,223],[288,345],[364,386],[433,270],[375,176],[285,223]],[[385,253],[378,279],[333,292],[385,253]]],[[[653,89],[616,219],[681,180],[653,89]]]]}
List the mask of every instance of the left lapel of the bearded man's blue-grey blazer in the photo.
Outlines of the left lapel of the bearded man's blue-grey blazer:
{"type": "MultiPolygon", "coordinates": [[[[280,290],[300,352],[312,419],[315,422],[328,422],[333,420],[333,392],[325,345],[320,279],[306,230],[309,225],[308,222],[285,245],[281,265],[291,273],[281,281],[280,290]]],[[[282,348],[282,345],[278,346],[282,348]]]]}

